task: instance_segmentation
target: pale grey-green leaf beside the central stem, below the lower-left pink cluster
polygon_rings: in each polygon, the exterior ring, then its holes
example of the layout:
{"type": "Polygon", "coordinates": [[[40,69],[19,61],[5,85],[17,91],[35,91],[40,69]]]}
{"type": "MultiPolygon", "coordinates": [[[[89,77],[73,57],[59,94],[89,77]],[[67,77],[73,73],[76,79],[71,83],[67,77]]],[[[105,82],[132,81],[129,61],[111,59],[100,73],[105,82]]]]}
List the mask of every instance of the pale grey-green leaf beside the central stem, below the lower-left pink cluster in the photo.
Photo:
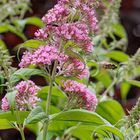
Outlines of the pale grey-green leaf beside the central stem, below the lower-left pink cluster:
{"type": "Polygon", "coordinates": [[[38,106],[30,112],[25,124],[34,124],[44,119],[47,119],[46,113],[40,106],[38,106]]]}

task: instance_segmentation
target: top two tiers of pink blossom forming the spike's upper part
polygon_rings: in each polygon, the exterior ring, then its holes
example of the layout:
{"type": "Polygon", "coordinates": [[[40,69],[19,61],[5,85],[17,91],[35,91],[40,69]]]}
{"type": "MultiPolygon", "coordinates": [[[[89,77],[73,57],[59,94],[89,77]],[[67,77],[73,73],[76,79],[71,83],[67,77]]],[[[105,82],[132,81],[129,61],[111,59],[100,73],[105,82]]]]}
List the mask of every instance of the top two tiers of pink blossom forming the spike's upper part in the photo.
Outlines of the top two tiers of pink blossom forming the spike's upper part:
{"type": "MultiPolygon", "coordinates": [[[[91,3],[94,2],[91,0],[91,3]]],[[[41,40],[48,39],[51,43],[56,40],[73,40],[85,52],[92,52],[90,32],[98,30],[98,21],[91,3],[83,0],[59,0],[42,18],[46,27],[38,30],[35,36],[41,40]]]]}

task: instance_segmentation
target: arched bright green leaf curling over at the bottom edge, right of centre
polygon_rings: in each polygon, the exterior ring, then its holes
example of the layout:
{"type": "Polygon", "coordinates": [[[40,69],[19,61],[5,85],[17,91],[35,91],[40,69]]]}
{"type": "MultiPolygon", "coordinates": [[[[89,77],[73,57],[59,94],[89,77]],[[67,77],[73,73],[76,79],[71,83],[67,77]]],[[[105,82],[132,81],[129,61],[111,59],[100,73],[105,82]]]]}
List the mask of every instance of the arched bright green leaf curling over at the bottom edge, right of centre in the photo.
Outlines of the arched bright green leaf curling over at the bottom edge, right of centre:
{"type": "Polygon", "coordinates": [[[104,133],[105,131],[111,132],[112,134],[117,136],[119,140],[124,140],[122,132],[119,129],[115,128],[114,126],[101,125],[94,130],[94,133],[100,133],[102,135],[102,132],[104,133]]]}

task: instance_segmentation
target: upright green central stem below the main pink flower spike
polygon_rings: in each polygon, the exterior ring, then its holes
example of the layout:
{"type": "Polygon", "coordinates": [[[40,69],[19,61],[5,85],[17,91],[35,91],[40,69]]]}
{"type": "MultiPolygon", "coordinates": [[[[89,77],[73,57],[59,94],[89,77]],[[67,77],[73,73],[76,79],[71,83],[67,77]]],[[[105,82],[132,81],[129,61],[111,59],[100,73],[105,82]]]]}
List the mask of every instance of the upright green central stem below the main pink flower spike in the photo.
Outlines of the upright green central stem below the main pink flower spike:
{"type": "Polygon", "coordinates": [[[43,140],[46,140],[46,137],[47,137],[49,112],[50,112],[50,104],[51,104],[51,95],[52,95],[53,83],[54,83],[54,80],[55,80],[57,63],[58,62],[55,61],[53,71],[52,71],[52,75],[50,76],[49,92],[48,92],[47,102],[46,102],[46,115],[47,115],[48,120],[47,120],[46,123],[44,123],[44,126],[43,126],[43,140]]]}

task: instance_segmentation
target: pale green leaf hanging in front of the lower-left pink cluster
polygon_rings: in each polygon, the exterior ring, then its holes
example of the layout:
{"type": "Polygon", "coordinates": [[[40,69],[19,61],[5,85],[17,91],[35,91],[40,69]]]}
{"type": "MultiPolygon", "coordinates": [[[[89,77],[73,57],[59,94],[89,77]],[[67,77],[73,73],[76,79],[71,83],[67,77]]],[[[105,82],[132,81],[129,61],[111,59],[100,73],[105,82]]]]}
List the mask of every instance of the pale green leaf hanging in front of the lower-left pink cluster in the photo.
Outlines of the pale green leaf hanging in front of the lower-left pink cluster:
{"type": "Polygon", "coordinates": [[[14,90],[12,92],[8,92],[6,94],[6,98],[8,100],[9,106],[10,106],[10,110],[13,112],[15,109],[15,97],[17,94],[17,90],[14,90]]]}

